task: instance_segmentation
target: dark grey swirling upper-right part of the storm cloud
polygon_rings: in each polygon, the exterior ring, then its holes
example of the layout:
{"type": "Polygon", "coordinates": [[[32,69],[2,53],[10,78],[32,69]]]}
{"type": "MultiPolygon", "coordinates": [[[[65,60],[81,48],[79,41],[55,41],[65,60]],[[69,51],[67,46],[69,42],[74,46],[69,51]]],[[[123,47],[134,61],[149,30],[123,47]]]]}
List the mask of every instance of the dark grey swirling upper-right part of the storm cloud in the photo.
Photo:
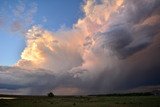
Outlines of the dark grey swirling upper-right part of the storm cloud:
{"type": "Polygon", "coordinates": [[[146,48],[159,32],[159,4],[157,0],[125,1],[119,14],[110,18],[110,27],[95,38],[99,39],[103,48],[110,48],[121,57],[146,48]]]}

